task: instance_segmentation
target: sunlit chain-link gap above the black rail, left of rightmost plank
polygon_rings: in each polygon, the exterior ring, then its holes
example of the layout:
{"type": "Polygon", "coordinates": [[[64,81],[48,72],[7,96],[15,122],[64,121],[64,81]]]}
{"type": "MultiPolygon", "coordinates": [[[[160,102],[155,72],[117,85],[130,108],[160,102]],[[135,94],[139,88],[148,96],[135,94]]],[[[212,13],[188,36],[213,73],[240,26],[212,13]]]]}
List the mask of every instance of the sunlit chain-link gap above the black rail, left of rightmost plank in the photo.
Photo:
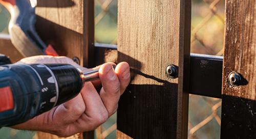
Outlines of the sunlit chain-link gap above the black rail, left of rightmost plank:
{"type": "Polygon", "coordinates": [[[224,10],[223,0],[200,0],[192,6],[191,51],[223,55],[224,10]]]}

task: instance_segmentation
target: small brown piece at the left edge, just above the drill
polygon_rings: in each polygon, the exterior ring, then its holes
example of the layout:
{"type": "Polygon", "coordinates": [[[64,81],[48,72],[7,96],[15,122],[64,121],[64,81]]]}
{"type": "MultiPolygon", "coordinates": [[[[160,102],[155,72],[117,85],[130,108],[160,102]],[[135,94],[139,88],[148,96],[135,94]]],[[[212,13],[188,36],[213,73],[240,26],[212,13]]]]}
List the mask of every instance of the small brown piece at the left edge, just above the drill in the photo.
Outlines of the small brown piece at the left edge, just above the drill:
{"type": "Polygon", "coordinates": [[[13,46],[10,39],[2,39],[0,36],[0,53],[8,56],[12,63],[19,61],[23,58],[22,54],[13,46]]]}

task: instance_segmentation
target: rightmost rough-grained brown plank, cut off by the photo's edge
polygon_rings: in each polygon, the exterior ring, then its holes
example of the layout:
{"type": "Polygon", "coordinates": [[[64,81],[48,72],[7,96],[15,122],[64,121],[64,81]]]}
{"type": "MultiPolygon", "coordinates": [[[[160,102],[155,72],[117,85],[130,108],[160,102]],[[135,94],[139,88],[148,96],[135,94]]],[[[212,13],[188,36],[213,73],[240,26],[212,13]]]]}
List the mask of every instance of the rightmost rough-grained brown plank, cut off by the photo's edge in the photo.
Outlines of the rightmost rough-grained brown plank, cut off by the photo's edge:
{"type": "Polygon", "coordinates": [[[256,2],[226,1],[221,138],[256,138],[256,2]],[[242,85],[230,87],[232,71],[242,85]]]}

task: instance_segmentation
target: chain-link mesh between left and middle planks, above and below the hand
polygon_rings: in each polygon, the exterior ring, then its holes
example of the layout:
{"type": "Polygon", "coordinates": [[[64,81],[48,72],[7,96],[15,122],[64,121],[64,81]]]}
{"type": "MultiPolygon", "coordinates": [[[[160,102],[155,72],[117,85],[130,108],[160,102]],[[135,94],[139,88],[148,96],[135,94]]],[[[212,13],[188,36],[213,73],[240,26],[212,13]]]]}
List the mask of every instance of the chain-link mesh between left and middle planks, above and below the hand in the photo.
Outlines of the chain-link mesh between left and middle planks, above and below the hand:
{"type": "MultiPolygon", "coordinates": [[[[117,44],[117,0],[95,0],[95,42],[117,44]]],[[[114,114],[95,130],[95,138],[116,138],[116,126],[114,114]]]]}

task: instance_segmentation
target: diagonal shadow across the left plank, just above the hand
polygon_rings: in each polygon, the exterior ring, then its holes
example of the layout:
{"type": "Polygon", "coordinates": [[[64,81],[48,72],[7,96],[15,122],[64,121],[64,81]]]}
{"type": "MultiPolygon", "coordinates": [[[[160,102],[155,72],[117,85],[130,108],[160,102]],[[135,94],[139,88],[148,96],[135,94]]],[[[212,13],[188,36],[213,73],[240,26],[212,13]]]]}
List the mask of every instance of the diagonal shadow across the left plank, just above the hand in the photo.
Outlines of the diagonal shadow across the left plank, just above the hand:
{"type": "Polygon", "coordinates": [[[37,16],[36,31],[43,41],[53,45],[59,55],[73,58],[83,54],[80,46],[83,43],[83,35],[67,29],[45,18],[37,16]]]}

